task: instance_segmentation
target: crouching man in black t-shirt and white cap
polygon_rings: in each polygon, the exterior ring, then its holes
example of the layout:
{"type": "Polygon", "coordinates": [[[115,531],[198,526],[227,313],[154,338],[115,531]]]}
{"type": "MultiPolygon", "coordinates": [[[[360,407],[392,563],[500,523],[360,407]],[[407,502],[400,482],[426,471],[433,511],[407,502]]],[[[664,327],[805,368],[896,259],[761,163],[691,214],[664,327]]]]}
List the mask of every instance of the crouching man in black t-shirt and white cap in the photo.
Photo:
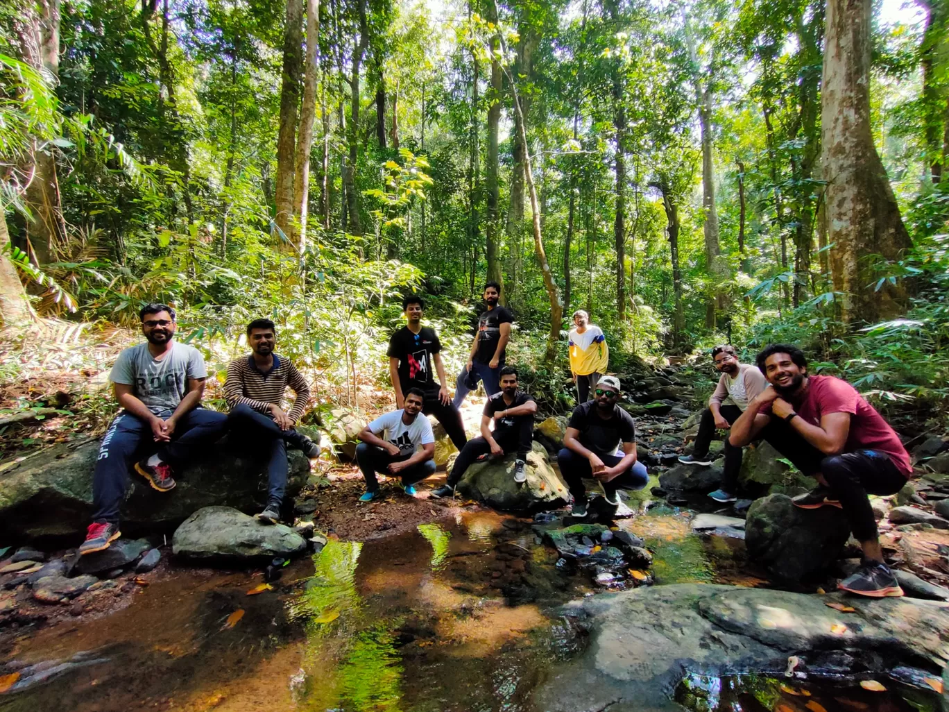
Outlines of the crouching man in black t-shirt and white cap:
{"type": "Polygon", "coordinates": [[[636,461],[636,425],[617,405],[620,379],[603,376],[593,391],[594,400],[573,409],[564,448],[557,453],[560,474],[573,496],[573,516],[586,516],[584,478],[603,483],[606,501],[620,506],[617,490],[642,490],[649,481],[646,468],[636,461]],[[622,449],[621,449],[622,444],[622,449]]]}

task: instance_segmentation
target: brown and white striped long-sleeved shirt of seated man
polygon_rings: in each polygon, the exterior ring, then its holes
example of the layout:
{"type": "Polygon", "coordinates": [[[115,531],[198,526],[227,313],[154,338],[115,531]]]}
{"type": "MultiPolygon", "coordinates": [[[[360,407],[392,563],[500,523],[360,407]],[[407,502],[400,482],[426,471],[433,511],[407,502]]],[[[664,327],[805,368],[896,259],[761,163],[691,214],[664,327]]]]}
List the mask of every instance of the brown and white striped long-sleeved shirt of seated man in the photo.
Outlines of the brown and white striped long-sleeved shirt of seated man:
{"type": "Polygon", "coordinates": [[[228,365],[228,378],[224,382],[224,397],[234,407],[244,403],[261,413],[270,414],[270,405],[280,405],[287,386],[296,393],[288,416],[296,422],[307,411],[309,385],[303,374],[288,358],[273,354],[273,367],[261,373],[253,363],[253,356],[242,356],[228,365]]]}

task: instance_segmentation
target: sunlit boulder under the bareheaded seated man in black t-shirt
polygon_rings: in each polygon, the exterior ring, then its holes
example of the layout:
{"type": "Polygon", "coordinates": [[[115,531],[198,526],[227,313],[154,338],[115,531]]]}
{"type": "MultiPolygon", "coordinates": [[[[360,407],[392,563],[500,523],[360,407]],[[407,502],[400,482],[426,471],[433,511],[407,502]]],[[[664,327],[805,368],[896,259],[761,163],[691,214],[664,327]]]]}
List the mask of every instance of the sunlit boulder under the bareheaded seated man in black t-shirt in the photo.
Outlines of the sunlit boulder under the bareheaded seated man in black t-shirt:
{"type": "Polygon", "coordinates": [[[458,492],[508,512],[540,512],[556,509],[567,502],[567,484],[550,466],[547,450],[534,440],[528,453],[528,480],[514,481],[515,456],[477,462],[457,484],[458,492]]]}

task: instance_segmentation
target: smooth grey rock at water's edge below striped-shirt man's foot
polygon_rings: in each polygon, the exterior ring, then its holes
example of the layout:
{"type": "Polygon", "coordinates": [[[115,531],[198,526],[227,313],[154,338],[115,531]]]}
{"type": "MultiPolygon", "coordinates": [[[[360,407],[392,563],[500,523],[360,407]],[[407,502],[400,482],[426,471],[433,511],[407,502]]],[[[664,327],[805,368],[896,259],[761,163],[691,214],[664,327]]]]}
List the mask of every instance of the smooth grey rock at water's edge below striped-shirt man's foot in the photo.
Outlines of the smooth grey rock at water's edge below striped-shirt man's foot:
{"type": "Polygon", "coordinates": [[[199,509],[172,537],[172,553],[193,559],[289,557],[306,550],[307,540],[289,527],[264,524],[231,507],[199,509]]]}

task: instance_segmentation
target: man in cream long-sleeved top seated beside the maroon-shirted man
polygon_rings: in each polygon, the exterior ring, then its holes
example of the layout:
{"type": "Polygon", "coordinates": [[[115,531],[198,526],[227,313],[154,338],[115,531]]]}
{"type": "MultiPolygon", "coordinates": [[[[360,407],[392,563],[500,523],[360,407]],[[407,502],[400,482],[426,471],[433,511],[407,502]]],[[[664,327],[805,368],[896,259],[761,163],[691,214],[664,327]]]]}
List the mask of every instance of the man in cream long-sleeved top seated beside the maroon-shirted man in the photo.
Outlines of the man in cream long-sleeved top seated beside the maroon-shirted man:
{"type": "MultiPolygon", "coordinates": [[[[735,347],[722,345],[712,349],[712,360],[721,373],[715,393],[709,399],[708,409],[702,413],[698,423],[696,446],[692,455],[679,458],[679,462],[690,465],[710,465],[709,444],[716,428],[728,430],[738,420],[748,403],[767,386],[764,375],[754,365],[738,363],[735,347]]],[[[741,448],[725,439],[725,472],[722,484],[709,493],[716,502],[734,502],[738,489],[738,472],[741,470],[741,448]]]]}

